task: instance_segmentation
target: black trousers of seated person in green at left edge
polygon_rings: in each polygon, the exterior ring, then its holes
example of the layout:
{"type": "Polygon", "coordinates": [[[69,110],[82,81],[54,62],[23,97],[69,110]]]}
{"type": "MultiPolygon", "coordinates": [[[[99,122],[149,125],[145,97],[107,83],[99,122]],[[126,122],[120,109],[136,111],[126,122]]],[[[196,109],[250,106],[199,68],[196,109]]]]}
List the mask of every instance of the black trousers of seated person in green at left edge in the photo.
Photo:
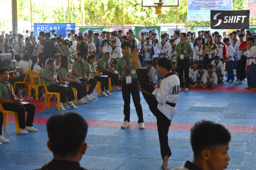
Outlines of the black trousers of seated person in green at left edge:
{"type": "Polygon", "coordinates": [[[30,126],[30,127],[33,126],[34,115],[36,111],[35,105],[31,103],[26,105],[15,105],[11,103],[3,103],[2,105],[4,110],[18,113],[18,121],[19,121],[20,128],[24,129],[25,126],[30,126]],[[25,124],[25,112],[28,112],[26,124],[25,124]]]}

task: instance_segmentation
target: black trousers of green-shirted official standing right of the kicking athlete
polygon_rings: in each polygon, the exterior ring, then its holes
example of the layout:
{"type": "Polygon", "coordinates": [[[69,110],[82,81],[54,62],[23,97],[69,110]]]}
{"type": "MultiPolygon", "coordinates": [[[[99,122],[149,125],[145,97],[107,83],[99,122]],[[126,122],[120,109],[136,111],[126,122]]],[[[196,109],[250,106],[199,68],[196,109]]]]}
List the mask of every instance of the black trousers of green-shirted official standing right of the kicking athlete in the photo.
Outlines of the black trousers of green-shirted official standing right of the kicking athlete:
{"type": "Polygon", "coordinates": [[[177,61],[177,67],[178,67],[178,73],[179,73],[179,79],[180,79],[180,88],[182,88],[182,78],[183,78],[183,71],[186,78],[186,88],[189,88],[189,58],[186,59],[179,59],[177,61]]]}

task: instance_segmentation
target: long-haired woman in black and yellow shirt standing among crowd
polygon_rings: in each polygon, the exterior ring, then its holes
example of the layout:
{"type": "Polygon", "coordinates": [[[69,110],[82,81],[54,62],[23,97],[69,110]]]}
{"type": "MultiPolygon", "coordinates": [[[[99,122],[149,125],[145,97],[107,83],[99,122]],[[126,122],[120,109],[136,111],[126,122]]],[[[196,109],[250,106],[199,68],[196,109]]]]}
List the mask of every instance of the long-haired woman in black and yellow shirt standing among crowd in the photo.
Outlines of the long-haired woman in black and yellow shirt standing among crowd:
{"type": "Polygon", "coordinates": [[[202,53],[204,54],[203,65],[204,69],[206,69],[207,64],[211,64],[213,61],[213,56],[219,53],[218,47],[212,43],[212,36],[207,36],[206,43],[202,47],[202,53]],[[216,54],[215,50],[217,51],[216,54]]]}

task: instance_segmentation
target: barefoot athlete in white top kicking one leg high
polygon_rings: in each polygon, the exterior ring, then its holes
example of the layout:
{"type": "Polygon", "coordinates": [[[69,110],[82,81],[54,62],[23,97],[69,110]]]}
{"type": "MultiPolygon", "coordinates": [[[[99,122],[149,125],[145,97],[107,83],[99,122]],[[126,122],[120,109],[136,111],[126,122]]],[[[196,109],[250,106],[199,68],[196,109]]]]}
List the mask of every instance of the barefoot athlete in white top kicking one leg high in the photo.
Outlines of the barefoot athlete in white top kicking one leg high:
{"type": "Polygon", "coordinates": [[[163,170],[168,169],[168,157],[171,156],[171,150],[168,146],[168,130],[171,120],[177,112],[176,103],[179,99],[180,81],[179,77],[171,72],[172,62],[170,59],[162,57],[157,60],[156,68],[162,81],[158,81],[156,89],[149,84],[147,69],[140,69],[138,51],[133,52],[132,63],[135,65],[140,90],[149,105],[150,111],[156,116],[157,130],[159,135],[163,170]]]}

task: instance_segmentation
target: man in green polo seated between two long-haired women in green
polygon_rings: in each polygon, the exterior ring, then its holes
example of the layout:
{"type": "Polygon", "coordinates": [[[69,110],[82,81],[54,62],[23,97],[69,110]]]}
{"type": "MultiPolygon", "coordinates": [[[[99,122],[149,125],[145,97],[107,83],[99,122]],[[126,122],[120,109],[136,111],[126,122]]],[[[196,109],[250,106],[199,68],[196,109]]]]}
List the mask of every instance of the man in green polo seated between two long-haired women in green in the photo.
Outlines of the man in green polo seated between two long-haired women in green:
{"type": "Polygon", "coordinates": [[[92,95],[92,91],[97,85],[97,80],[90,78],[92,70],[91,70],[90,64],[84,60],[83,52],[77,53],[77,61],[73,63],[72,69],[73,69],[73,76],[79,78],[81,82],[90,84],[90,88],[88,92],[86,89],[84,91],[84,99],[89,102],[92,101],[93,99],[96,99],[96,97],[92,95]]]}

